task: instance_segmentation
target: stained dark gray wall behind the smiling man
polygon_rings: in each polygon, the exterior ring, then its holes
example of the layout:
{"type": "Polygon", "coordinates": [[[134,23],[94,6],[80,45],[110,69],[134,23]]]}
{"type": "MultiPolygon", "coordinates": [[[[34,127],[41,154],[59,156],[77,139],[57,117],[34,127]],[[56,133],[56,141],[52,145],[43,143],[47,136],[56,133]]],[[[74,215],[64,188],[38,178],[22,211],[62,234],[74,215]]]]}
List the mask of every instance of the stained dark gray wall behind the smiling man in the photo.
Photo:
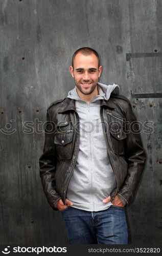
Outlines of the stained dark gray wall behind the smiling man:
{"type": "Polygon", "coordinates": [[[138,120],[154,122],[153,133],[142,133],[148,163],[127,216],[131,243],[161,243],[162,102],[131,98],[162,92],[161,56],[143,54],[161,52],[161,13],[160,0],[0,0],[1,244],[68,243],[61,214],[40,184],[44,133],[38,121],[74,87],[68,67],[84,46],[100,53],[100,81],[120,84],[138,120]],[[126,60],[128,53],[142,55],[126,60]]]}

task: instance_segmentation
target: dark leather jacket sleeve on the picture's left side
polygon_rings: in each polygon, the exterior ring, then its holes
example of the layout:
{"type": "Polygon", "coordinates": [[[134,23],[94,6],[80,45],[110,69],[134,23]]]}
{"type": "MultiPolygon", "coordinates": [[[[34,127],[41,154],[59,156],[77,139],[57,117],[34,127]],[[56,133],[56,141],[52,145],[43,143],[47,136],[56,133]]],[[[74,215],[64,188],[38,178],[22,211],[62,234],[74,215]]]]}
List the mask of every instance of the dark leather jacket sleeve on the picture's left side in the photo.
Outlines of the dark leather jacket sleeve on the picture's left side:
{"type": "Polygon", "coordinates": [[[61,198],[56,191],[56,148],[54,144],[55,125],[51,121],[49,110],[47,111],[47,122],[45,125],[45,141],[43,154],[39,158],[39,174],[45,196],[51,207],[57,210],[56,202],[61,198]]]}

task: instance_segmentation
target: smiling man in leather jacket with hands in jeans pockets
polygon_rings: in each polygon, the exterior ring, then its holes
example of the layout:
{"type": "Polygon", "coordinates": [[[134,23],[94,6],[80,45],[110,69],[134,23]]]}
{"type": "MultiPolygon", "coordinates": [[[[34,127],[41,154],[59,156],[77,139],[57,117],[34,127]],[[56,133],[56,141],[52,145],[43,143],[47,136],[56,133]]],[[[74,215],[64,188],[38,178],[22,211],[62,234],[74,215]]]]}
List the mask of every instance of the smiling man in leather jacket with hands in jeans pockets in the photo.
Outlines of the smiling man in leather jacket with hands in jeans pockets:
{"type": "Polygon", "coordinates": [[[127,244],[125,206],[146,160],[138,124],[119,86],[98,82],[94,49],[78,49],[70,72],[76,87],[47,111],[44,193],[62,212],[71,244],[127,244]]]}

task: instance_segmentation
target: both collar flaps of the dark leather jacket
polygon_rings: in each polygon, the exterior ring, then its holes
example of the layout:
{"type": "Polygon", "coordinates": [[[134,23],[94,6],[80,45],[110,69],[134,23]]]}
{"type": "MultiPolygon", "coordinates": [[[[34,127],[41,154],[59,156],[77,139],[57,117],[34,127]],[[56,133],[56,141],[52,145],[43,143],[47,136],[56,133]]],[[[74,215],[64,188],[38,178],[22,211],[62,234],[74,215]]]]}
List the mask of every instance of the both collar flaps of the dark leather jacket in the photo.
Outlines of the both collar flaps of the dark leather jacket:
{"type": "MultiPolygon", "coordinates": [[[[108,108],[114,109],[115,108],[115,104],[113,103],[112,99],[109,98],[108,100],[105,99],[101,99],[101,104],[100,106],[108,106],[108,108]]],[[[75,106],[75,99],[70,99],[70,98],[65,98],[59,109],[58,112],[59,113],[63,113],[65,111],[69,111],[69,110],[74,110],[76,111],[76,106],[75,106]]]]}

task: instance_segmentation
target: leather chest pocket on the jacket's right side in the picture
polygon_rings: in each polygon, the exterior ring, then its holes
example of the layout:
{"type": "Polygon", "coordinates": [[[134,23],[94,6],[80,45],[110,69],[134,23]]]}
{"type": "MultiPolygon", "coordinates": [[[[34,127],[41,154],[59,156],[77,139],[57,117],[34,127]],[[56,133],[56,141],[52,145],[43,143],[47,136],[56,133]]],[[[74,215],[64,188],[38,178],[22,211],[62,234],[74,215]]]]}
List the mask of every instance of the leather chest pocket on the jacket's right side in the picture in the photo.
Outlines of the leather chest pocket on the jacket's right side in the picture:
{"type": "Polygon", "coordinates": [[[116,155],[124,155],[125,139],[125,121],[122,117],[106,112],[110,116],[109,132],[111,135],[112,149],[116,155]]]}

